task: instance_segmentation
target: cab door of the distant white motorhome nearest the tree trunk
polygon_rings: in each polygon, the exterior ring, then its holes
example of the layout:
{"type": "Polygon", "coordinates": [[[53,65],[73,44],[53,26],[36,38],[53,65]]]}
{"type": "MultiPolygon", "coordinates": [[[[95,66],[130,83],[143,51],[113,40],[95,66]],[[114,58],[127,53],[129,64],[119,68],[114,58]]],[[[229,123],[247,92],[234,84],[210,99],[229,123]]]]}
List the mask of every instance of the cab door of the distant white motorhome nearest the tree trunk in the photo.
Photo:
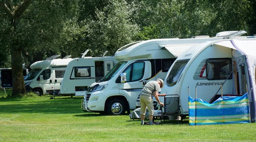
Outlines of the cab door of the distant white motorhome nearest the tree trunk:
{"type": "Polygon", "coordinates": [[[41,88],[43,88],[44,90],[44,94],[47,90],[52,90],[52,87],[54,87],[53,84],[53,79],[52,79],[52,70],[51,69],[45,69],[41,72],[37,78],[38,81],[38,86],[40,86],[41,88]],[[43,79],[42,81],[40,81],[40,75],[43,75],[43,79]]]}

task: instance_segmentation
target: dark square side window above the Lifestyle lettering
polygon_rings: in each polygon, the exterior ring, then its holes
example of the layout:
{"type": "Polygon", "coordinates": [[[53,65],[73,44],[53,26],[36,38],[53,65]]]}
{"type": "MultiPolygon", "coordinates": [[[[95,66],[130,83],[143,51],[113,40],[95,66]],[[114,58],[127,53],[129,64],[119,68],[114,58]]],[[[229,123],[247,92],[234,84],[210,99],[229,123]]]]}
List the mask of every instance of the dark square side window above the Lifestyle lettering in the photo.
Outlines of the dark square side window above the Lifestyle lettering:
{"type": "Polygon", "coordinates": [[[206,77],[208,80],[227,79],[227,77],[231,79],[230,72],[232,72],[230,58],[208,59],[206,61],[206,77]]]}

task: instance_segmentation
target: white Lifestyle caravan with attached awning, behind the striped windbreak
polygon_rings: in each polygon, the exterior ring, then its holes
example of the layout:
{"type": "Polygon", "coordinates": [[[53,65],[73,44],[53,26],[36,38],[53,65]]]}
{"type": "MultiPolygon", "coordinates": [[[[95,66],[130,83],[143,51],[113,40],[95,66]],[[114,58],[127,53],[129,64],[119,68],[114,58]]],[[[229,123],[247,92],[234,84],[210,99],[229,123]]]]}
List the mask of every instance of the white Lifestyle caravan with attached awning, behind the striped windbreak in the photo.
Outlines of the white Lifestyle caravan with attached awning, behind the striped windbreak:
{"type": "Polygon", "coordinates": [[[177,94],[179,100],[169,99],[166,110],[177,114],[179,103],[181,115],[188,115],[188,94],[192,98],[196,94],[197,98],[212,103],[221,94],[239,96],[248,92],[251,120],[255,122],[255,67],[256,37],[233,38],[230,35],[198,43],[180,55],[167,72],[161,93],[177,94]]]}

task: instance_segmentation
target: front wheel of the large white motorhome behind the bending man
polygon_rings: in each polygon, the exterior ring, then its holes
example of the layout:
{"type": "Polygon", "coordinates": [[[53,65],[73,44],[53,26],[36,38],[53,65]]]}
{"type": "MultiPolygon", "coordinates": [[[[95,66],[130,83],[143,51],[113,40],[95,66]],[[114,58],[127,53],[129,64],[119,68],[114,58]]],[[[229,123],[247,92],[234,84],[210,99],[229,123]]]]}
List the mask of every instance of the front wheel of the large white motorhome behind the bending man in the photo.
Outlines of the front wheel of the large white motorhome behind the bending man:
{"type": "Polygon", "coordinates": [[[109,115],[124,115],[126,111],[125,103],[119,99],[113,99],[108,103],[109,115]]]}

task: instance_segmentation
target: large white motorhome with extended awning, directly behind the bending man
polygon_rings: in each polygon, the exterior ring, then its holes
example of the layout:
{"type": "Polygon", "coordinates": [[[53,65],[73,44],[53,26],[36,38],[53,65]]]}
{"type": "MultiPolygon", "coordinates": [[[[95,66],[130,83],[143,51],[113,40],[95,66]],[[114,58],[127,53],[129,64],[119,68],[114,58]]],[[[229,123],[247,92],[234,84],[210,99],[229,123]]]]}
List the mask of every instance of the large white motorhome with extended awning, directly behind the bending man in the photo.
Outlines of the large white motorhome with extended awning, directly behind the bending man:
{"type": "Polygon", "coordinates": [[[118,64],[100,81],[90,85],[82,110],[122,115],[135,109],[143,80],[165,78],[169,67],[189,47],[221,38],[153,39],[137,41],[118,49],[118,64]],[[122,81],[121,81],[122,78],[122,81]]]}

